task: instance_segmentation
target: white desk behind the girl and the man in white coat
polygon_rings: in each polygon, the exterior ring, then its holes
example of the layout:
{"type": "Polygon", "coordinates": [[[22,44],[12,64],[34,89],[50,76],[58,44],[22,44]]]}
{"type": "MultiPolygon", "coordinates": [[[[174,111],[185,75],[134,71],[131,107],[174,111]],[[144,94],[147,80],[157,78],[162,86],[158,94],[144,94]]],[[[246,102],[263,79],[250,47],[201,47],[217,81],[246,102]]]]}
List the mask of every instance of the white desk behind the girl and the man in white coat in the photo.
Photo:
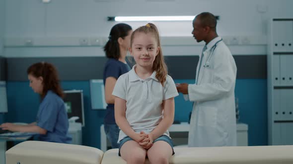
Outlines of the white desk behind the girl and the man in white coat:
{"type": "MultiPolygon", "coordinates": [[[[181,135],[181,138],[184,138],[184,144],[187,144],[187,138],[188,138],[188,131],[189,131],[189,123],[182,122],[179,124],[172,124],[172,126],[168,129],[170,132],[170,136],[172,139],[176,139],[175,133],[184,133],[181,135]],[[174,133],[174,135],[172,134],[174,133]],[[182,137],[183,136],[183,137],[182,137]]],[[[100,133],[101,133],[101,150],[106,152],[107,151],[107,143],[109,142],[107,140],[107,136],[104,130],[104,124],[100,127],[100,133]]],[[[237,123],[237,146],[247,146],[248,145],[248,125],[245,123],[237,123]]],[[[174,145],[175,142],[174,142],[174,145]]]]}

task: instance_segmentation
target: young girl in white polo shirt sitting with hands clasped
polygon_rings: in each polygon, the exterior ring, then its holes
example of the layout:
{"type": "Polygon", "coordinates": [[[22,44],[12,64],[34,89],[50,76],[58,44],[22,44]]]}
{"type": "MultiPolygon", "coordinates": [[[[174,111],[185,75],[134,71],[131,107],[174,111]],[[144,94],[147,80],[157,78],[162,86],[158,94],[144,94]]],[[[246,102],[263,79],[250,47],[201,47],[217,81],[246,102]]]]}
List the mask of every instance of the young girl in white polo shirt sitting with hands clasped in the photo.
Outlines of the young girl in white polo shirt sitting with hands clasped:
{"type": "Polygon", "coordinates": [[[117,80],[115,120],[120,127],[119,155],[127,164],[169,164],[174,154],[168,128],[174,120],[174,81],[167,75],[158,30],[148,23],[131,36],[132,70],[117,80]]]}

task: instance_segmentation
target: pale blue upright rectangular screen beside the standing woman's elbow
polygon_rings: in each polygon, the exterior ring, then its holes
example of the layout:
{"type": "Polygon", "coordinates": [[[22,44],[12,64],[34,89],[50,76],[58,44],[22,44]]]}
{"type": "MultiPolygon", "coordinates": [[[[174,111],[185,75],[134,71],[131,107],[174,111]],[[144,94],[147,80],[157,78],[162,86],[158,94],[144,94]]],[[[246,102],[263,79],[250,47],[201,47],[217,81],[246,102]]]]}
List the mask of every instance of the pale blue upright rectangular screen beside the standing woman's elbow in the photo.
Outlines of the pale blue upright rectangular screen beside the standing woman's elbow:
{"type": "Polygon", "coordinates": [[[93,79],[90,84],[91,108],[94,110],[106,109],[105,87],[102,79],[93,79]]]}

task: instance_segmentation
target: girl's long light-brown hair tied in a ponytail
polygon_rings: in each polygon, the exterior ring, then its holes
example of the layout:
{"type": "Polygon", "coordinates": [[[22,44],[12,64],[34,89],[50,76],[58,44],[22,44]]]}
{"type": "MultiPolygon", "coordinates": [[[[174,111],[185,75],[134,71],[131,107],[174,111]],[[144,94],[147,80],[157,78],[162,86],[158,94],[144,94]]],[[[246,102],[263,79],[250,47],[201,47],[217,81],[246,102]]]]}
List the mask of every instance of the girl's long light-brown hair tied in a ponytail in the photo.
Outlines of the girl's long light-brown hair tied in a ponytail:
{"type": "Polygon", "coordinates": [[[157,41],[157,46],[160,47],[159,52],[153,61],[152,69],[156,71],[155,77],[164,86],[164,82],[166,81],[166,76],[168,75],[168,69],[164,61],[158,29],[152,23],[148,23],[146,26],[142,26],[136,29],[131,35],[131,46],[133,44],[134,36],[138,32],[145,33],[145,34],[149,34],[149,33],[153,34],[155,37],[155,40],[157,41]]]}

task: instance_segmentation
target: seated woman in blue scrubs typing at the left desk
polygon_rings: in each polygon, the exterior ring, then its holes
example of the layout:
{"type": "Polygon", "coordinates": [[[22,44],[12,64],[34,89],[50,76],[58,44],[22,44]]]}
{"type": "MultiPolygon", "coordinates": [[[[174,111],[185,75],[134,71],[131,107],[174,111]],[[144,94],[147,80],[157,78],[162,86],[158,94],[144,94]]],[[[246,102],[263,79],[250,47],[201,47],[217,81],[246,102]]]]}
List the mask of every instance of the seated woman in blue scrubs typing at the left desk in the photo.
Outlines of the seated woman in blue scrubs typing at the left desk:
{"type": "Polygon", "coordinates": [[[35,63],[27,69],[27,74],[29,86],[40,94],[42,100],[36,122],[27,125],[2,123],[0,128],[39,133],[40,141],[71,143],[67,112],[62,100],[64,94],[56,68],[46,62],[35,63]]]}

